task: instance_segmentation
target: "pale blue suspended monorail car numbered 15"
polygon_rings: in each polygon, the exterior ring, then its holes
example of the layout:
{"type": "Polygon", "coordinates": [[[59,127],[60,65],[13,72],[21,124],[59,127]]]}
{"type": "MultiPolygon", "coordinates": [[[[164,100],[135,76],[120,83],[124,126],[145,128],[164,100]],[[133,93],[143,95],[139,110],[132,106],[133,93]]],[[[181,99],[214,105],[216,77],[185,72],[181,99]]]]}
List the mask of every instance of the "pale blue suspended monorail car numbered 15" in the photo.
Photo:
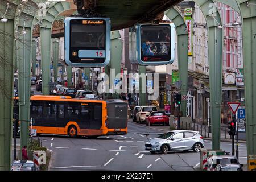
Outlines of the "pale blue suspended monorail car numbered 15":
{"type": "Polygon", "coordinates": [[[110,60],[109,18],[65,18],[65,63],[105,67],[110,60]]]}

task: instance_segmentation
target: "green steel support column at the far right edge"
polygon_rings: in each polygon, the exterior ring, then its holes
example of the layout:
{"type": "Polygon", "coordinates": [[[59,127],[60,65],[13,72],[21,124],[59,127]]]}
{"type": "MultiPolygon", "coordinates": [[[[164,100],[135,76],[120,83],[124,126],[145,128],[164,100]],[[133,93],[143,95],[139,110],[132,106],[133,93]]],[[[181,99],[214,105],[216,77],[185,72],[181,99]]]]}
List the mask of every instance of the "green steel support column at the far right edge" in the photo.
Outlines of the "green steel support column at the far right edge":
{"type": "MultiPolygon", "coordinates": [[[[237,0],[242,15],[247,155],[256,155],[256,1],[237,0]]],[[[248,159],[248,158],[247,158],[248,159]]]]}

